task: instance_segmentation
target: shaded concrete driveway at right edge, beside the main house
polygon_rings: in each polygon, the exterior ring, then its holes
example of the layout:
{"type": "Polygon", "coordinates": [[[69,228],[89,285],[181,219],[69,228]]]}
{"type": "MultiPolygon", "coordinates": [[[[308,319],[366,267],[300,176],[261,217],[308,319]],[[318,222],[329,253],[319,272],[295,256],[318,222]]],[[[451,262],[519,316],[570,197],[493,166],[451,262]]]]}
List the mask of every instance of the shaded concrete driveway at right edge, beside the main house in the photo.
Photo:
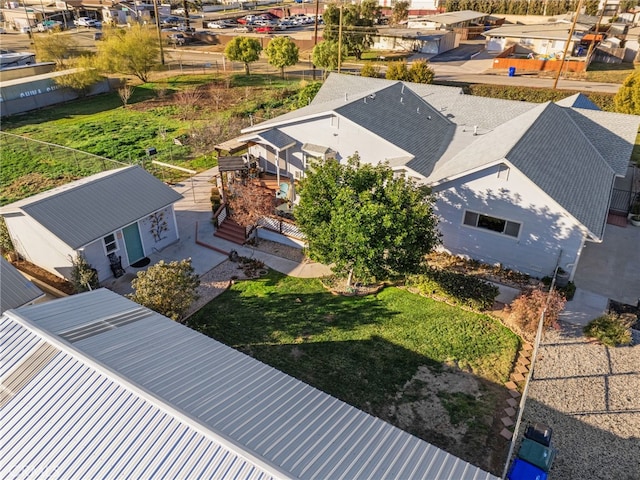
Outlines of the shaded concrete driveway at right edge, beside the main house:
{"type": "Polygon", "coordinates": [[[616,302],[640,299],[640,228],[607,225],[602,243],[588,242],[574,277],[576,287],[616,302]]]}

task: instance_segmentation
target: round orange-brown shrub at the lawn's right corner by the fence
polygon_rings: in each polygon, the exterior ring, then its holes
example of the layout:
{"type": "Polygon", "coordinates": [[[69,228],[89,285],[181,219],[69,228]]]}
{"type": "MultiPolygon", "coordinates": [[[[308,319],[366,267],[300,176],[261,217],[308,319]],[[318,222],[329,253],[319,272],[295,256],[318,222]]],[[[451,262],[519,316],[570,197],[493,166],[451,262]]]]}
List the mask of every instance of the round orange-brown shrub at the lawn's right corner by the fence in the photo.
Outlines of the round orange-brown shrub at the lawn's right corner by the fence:
{"type": "Polygon", "coordinates": [[[540,315],[546,307],[543,328],[549,328],[558,321],[560,312],[567,303],[564,295],[557,290],[544,292],[542,290],[532,290],[516,298],[510,306],[511,319],[523,331],[535,333],[538,328],[540,315]]]}

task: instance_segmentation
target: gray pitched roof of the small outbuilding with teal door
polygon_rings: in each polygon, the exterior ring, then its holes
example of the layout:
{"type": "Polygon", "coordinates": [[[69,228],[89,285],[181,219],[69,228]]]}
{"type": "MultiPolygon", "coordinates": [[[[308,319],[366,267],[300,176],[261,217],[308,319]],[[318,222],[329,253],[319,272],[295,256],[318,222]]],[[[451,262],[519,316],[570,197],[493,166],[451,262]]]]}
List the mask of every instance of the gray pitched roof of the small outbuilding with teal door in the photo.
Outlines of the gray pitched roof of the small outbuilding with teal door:
{"type": "Polygon", "coordinates": [[[182,196],[138,166],[68,183],[4,206],[21,209],[73,249],[129,225],[182,196]]]}

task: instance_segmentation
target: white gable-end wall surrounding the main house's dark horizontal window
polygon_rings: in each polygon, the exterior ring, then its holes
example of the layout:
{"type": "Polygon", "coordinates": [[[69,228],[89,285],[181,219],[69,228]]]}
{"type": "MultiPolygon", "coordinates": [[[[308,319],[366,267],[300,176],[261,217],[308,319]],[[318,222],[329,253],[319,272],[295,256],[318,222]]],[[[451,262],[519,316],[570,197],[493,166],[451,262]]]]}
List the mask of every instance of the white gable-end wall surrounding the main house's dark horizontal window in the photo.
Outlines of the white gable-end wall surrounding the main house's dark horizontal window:
{"type": "Polygon", "coordinates": [[[558,258],[572,272],[585,235],[569,214],[514,168],[508,179],[492,167],[434,188],[443,247],[535,277],[550,275],[558,258]],[[518,222],[518,238],[463,225],[465,210],[518,222]]]}

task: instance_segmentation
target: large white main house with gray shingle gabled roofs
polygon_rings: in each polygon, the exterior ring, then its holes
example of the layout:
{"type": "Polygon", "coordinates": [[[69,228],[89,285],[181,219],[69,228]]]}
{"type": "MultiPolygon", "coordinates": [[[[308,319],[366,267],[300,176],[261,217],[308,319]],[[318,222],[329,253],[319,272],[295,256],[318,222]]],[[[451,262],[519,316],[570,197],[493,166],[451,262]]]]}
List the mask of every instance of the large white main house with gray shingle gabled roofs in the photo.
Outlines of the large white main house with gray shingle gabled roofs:
{"type": "Polygon", "coordinates": [[[543,277],[557,265],[574,272],[585,242],[602,241],[614,180],[626,174],[640,117],[594,107],[581,95],[535,104],[332,74],[309,106],[243,139],[285,177],[304,177],[326,157],[318,151],[386,162],[433,188],[443,249],[543,277]],[[261,140],[275,130],[282,149],[261,140]]]}

